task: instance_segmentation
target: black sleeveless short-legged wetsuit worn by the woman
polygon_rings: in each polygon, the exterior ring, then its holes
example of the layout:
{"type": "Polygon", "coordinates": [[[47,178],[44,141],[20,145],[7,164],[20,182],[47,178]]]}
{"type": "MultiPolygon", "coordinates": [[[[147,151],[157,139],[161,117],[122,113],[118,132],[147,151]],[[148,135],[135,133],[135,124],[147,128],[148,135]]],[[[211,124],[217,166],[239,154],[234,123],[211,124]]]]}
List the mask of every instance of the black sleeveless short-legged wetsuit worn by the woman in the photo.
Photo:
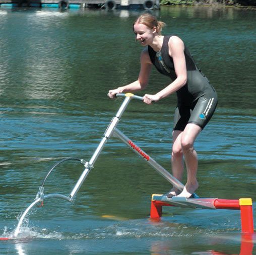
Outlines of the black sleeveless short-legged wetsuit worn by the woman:
{"type": "MultiPolygon", "coordinates": [[[[171,36],[164,36],[159,52],[155,52],[150,46],[148,46],[148,52],[156,69],[173,81],[177,76],[173,59],[169,55],[168,42],[171,36]]],[[[216,109],[217,93],[204,73],[197,67],[186,46],[184,55],[187,83],[176,92],[178,104],[174,114],[173,130],[183,131],[187,123],[195,123],[203,129],[216,109]]]]}

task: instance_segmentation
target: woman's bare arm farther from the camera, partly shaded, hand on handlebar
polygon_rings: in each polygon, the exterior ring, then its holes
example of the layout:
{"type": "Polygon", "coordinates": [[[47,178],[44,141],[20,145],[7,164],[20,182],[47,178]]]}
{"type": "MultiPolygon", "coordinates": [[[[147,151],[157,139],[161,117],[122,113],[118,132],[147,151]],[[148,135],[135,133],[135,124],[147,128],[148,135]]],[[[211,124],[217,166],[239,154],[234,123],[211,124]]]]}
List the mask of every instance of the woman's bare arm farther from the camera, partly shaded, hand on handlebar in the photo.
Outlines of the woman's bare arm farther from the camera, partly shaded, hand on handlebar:
{"type": "Polygon", "coordinates": [[[138,80],[127,84],[126,86],[119,87],[114,90],[110,90],[108,92],[108,96],[113,98],[117,93],[126,93],[126,92],[134,92],[134,91],[141,91],[147,87],[149,75],[152,68],[152,63],[150,61],[148,47],[146,47],[141,53],[141,70],[139,73],[138,80]]]}

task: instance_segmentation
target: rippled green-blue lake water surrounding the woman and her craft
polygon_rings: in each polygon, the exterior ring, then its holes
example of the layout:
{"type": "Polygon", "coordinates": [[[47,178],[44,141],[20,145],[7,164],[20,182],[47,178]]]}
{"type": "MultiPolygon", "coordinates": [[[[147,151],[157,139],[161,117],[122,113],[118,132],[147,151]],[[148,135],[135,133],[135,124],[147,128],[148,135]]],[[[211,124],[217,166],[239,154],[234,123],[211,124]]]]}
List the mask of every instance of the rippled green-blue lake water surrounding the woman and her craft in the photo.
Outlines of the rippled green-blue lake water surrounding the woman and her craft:
{"type": "MultiPolygon", "coordinates": [[[[137,78],[141,46],[131,26],[139,13],[0,9],[1,236],[12,236],[52,165],[69,156],[90,159],[121,104],[107,91],[137,78]]],[[[219,96],[196,142],[197,193],[255,201],[255,10],[162,8],[155,14],[168,25],[164,34],[184,39],[219,96]]],[[[168,82],[153,70],[147,93],[168,82]]],[[[175,105],[175,95],[152,106],[133,101],[118,126],[169,170],[175,105]]],[[[69,195],[82,171],[77,161],[59,165],[45,193],[69,195]]],[[[163,208],[162,221],[151,221],[151,195],[169,189],[111,139],[76,202],[49,199],[33,208],[20,238],[1,241],[0,253],[248,254],[239,211],[163,208]]]]}

